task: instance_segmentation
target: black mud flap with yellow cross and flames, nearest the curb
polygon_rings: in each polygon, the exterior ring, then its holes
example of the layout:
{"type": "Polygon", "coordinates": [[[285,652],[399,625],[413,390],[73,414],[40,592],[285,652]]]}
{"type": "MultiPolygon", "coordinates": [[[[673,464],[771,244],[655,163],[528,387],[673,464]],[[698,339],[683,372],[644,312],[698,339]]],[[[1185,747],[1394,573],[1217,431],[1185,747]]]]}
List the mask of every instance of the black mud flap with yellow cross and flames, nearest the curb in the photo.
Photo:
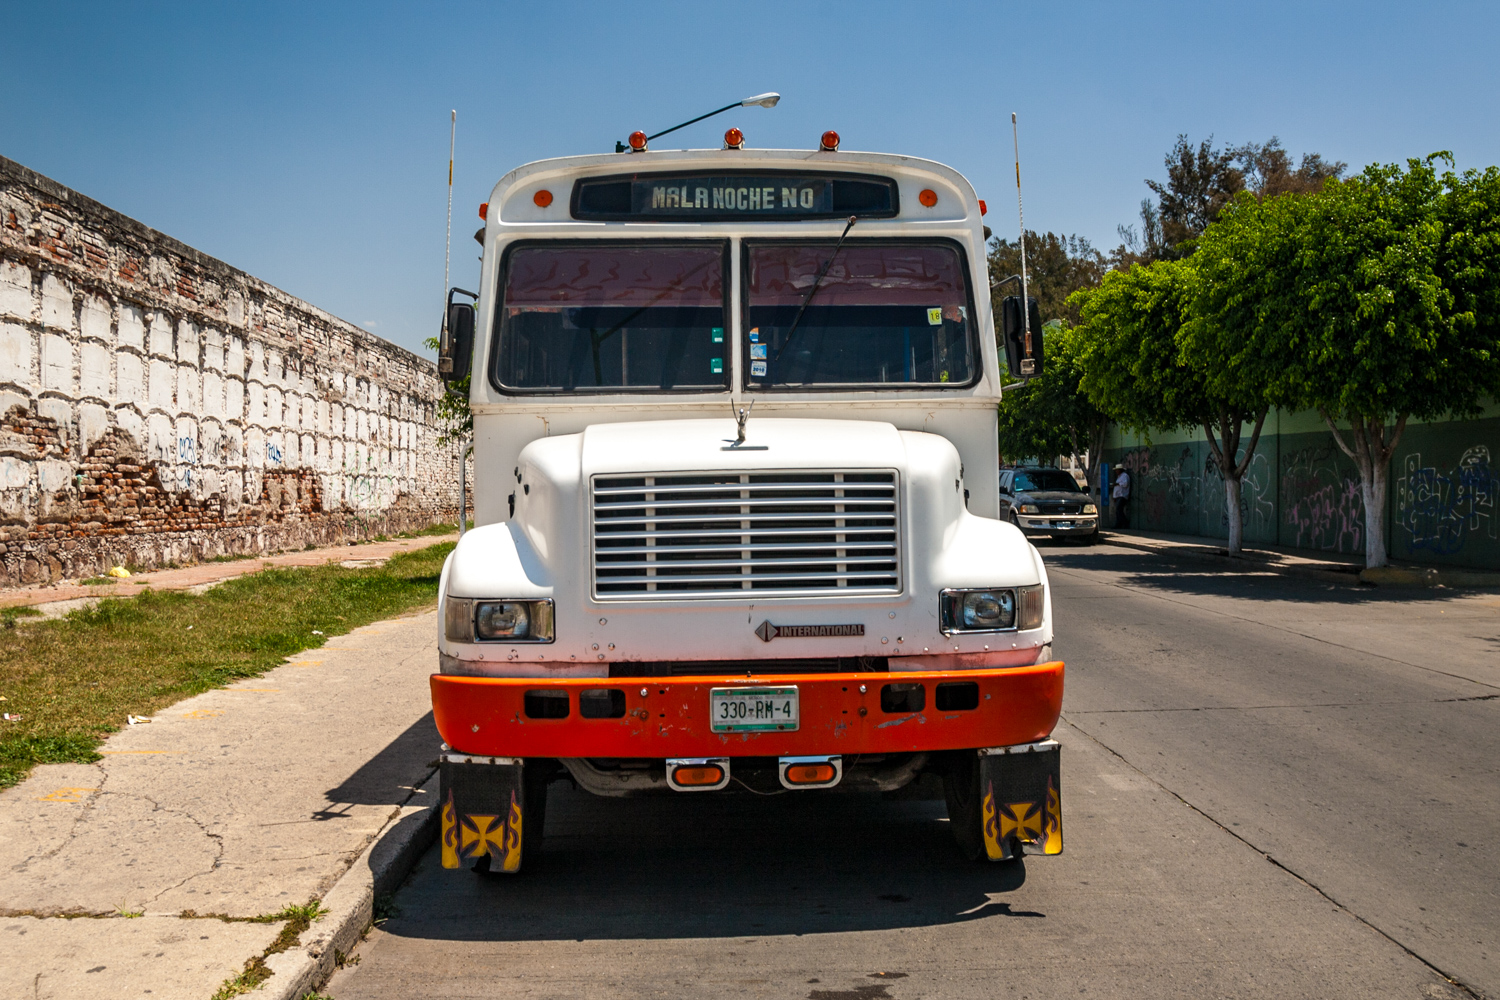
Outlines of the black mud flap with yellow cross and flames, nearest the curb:
{"type": "Polygon", "coordinates": [[[520,871],[526,790],[520,757],[444,753],[440,763],[444,868],[520,871]]]}

